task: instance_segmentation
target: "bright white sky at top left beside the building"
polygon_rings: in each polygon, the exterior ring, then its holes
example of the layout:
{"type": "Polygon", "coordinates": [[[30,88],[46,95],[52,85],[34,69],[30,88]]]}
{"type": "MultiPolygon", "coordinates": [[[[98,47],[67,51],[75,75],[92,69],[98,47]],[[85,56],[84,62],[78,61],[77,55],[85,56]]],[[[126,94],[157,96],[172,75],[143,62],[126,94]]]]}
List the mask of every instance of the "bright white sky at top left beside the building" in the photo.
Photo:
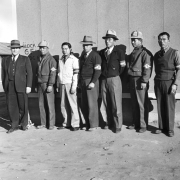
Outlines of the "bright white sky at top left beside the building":
{"type": "Polygon", "coordinates": [[[0,0],[0,42],[17,39],[16,0],[0,0]]]}

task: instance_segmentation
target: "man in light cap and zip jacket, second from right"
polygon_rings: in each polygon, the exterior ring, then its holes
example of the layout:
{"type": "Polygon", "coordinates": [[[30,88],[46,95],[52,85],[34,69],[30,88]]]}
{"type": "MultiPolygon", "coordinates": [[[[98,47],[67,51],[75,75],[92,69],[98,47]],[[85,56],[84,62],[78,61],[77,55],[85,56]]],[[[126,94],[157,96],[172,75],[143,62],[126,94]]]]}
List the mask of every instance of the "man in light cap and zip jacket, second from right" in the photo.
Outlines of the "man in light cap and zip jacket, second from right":
{"type": "Polygon", "coordinates": [[[134,47],[127,62],[132,103],[133,122],[129,129],[137,129],[140,133],[148,126],[148,89],[152,72],[152,53],[143,47],[143,35],[140,31],[131,33],[134,47]]]}

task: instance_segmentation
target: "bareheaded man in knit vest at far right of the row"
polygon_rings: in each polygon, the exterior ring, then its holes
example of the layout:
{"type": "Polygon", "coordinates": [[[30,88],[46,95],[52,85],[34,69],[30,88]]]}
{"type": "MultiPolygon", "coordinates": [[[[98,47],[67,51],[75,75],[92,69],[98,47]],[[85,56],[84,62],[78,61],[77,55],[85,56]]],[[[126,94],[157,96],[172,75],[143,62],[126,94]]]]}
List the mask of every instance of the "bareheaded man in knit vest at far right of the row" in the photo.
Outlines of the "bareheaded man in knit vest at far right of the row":
{"type": "Polygon", "coordinates": [[[156,134],[167,133],[174,136],[175,94],[180,77],[180,57],[176,49],[170,47],[170,35],[162,32],[158,35],[160,50],[154,55],[155,94],[159,129],[156,134]]]}

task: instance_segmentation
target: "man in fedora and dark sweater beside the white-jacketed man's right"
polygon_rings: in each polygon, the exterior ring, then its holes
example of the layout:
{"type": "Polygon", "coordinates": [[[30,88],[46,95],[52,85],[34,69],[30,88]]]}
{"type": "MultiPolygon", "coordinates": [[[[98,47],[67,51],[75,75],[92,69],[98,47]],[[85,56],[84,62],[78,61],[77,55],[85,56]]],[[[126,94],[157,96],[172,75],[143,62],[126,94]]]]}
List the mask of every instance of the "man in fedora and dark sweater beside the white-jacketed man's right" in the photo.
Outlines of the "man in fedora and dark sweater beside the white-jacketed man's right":
{"type": "Polygon", "coordinates": [[[101,74],[101,57],[92,50],[91,36],[84,36],[83,52],[80,57],[80,87],[81,105],[86,129],[93,131],[99,126],[98,97],[99,97],[99,76],[101,74]]]}

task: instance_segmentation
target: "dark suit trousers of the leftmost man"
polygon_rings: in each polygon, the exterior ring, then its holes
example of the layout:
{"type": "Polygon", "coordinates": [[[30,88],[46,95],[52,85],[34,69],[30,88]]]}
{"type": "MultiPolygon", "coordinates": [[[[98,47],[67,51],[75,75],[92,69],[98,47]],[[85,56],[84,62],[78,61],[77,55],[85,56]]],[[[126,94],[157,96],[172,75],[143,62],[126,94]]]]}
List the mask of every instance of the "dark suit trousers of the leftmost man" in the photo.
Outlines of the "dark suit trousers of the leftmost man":
{"type": "Polygon", "coordinates": [[[16,91],[14,81],[9,81],[7,105],[11,128],[17,128],[19,124],[25,128],[28,125],[28,96],[25,92],[16,91]]]}

